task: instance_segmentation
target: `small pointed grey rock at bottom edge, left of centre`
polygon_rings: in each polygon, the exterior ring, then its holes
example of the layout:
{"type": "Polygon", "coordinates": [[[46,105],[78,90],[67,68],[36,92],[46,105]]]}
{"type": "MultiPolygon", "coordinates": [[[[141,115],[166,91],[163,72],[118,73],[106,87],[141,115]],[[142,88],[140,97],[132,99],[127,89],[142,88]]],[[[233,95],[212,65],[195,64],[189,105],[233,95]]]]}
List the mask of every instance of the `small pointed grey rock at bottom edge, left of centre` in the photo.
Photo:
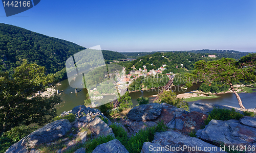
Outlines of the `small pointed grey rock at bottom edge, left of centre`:
{"type": "Polygon", "coordinates": [[[129,153],[117,139],[98,145],[92,153],[129,153]]]}

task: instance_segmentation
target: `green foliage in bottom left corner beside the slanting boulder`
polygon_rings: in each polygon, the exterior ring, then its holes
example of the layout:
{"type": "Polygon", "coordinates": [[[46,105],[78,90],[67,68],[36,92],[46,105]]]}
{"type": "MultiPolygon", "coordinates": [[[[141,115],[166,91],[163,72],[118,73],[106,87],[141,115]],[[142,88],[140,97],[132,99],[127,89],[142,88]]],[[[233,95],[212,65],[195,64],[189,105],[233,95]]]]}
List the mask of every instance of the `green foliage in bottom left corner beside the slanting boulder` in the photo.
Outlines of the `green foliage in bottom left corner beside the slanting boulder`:
{"type": "Polygon", "coordinates": [[[37,130],[37,127],[21,125],[13,127],[10,131],[5,132],[0,137],[0,152],[5,152],[12,144],[18,142],[35,130],[37,130]]]}

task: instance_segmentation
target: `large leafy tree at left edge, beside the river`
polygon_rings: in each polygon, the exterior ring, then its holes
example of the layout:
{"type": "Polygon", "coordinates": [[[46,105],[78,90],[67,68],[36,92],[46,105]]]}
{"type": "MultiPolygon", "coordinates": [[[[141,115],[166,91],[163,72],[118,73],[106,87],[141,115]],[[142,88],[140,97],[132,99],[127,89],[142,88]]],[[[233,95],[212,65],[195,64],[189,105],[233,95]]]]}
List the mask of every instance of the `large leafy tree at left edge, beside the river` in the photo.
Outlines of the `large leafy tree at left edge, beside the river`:
{"type": "Polygon", "coordinates": [[[12,78],[7,72],[0,72],[0,133],[19,125],[52,121],[56,116],[54,105],[61,102],[60,97],[34,95],[54,83],[55,76],[47,75],[45,67],[26,60],[14,70],[12,78]]]}

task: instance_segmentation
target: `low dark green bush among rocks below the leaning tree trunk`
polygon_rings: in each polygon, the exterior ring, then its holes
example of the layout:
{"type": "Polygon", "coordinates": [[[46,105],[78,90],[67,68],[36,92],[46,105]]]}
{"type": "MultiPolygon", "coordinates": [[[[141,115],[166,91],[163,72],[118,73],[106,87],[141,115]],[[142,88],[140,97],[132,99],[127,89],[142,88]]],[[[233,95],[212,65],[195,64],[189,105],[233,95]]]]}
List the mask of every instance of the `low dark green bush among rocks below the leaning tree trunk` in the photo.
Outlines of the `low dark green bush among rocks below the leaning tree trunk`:
{"type": "Polygon", "coordinates": [[[209,114],[207,119],[205,120],[205,125],[207,125],[212,119],[217,120],[229,120],[229,119],[240,119],[244,115],[236,112],[233,108],[229,109],[221,109],[221,108],[214,108],[209,114]]]}

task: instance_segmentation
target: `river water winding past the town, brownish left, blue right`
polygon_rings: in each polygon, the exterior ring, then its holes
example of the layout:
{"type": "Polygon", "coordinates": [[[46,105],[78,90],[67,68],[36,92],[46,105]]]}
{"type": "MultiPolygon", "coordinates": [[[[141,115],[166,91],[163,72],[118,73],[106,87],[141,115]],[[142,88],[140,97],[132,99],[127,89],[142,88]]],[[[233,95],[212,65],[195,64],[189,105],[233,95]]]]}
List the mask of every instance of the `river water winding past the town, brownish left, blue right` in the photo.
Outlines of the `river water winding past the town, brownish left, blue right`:
{"type": "MultiPolygon", "coordinates": [[[[59,96],[63,100],[60,105],[57,105],[57,115],[61,114],[63,111],[72,110],[74,107],[78,105],[83,105],[84,100],[86,99],[87,89],[78,89],[78,93],[75,93],[75,88],[69,86],[68,80],[63,80],[60,82],[61,85],[56,86],[55,89],[58,89],[61,93],[59,96]],[[71,93],[72,92],[72,93],[71,93]]],[[[200,84],[195,84],[188,89],[180,89],[176,86],[172,87],[172,90],[176,94],[191,92],[197,90],[200,84]]],[[[150,101],[152,102],[155,98],[154,95],[157,95],[162,89],[151,89],[151,90],[144,90],[144,91],[136,91],[131,92],[130,96],[132,97],[133,107],[135,107],[137,103],[137,98],[140,96],[149,97],[150,101]]],[[[197,101],[188,102],[189,105],[197,102],[197,103],[211,103],[211,104],[219,104],[219,105],[228,105],[233,107],[239,107],[238,100],[236,95],[233,93],[226,93],[226,94],[217,94],[220,96],[219,98],[214,99],[201,99],[197,101]]],[[[245,108],[256,108],[256,92],[253,93],[240,93],[239,94],[243,105],[245,108]]]]}

